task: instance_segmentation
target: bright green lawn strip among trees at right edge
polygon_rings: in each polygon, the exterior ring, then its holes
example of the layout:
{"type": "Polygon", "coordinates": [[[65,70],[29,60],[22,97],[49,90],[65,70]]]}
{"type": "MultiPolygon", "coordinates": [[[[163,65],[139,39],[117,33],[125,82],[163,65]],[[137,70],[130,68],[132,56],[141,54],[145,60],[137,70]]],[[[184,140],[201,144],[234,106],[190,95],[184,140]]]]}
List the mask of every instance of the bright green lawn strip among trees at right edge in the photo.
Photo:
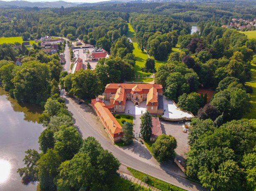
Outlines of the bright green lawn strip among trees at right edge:
{"type": "MultiPolygon", "coordinates": [[[[256,55],[254,55],[254,59],[251,62],[251,81],[256,81],[256,55]]],[[[256,119],[256,82],[246,82],[245,84],[253,89],[253,92],[250,93],[253,108],[249,114],[244,115],[244,118],[256,119]]]]}

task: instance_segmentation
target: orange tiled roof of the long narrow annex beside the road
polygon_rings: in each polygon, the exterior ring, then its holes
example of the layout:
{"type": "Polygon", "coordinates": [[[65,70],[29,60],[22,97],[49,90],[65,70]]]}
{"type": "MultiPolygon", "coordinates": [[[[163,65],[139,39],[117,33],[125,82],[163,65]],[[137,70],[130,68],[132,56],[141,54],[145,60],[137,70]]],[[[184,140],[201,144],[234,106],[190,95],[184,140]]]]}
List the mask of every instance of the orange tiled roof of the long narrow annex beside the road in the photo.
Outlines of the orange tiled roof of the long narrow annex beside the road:
{"type": "Polygon", "coordinates": [[[112,133],[113,137],[116,133],[122,133],[122,126],[120,126],[120,124],[117,122],[117,120],[108,110],[108,108],[105,107],[105,104],[101,100],[96,101],[96,99],[91,100],[91,102],[94,105],[95,109],[97,109],[98,113],[100,113],[103,121],[107,124],[108,128],[110,128],[110,132],[112,133]]]}

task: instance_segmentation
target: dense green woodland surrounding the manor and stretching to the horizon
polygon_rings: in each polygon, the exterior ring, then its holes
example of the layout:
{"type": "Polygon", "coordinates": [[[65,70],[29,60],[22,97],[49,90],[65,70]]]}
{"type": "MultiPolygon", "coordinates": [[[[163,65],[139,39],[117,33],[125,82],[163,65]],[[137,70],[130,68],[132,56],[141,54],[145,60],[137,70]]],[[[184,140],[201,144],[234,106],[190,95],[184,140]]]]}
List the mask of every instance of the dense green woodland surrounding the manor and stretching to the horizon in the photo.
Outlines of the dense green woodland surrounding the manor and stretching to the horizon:
{"type": "MultiPolygon", "coordinates": [[[[82,140],[58,86],[88,101],[101,94],[106,84],[131,79],[136,57],[133,43],[125,37],[129,22],[141,51],[165,61],[156,70],[154,59],[148,59],[143,70],[156,72],[155,81],[163,85],[164,95],[196,116],[189,132],[186,175],[213,191],[254,191],[256,121],[242,118],[251,109],[252,89],[245,82],[251,79],[256,40],[220,27],[232,17],[255,18],[256,7],[250,2],[0,9],[0,36],[79,38],[111,55],[100,60],[95,70],[68,74],[61,72],[57,54],[48,56],[36,45],[31,50],[0,45],[1,85],[19,102],[44,108],[41,153],[26,152],[26,167],[18,170],[23,183],[39,181],[42,189],[66,191],[115,190],[110,179],[118,179],[115,172],[120,163],[93,137],[82,140]],[[199,21],[200,31],[191,35],[184,21],[199,21]],[[172,51],[177,44],[179,51],[172,51]],[[21,56],[22,66],[14,65],[21,56]],[[207,95],[196,93],[199,88],[215,91],[210,103],[206,104],[207,95]],[[114,162],[106,167],[106,161],[114,162]]],[[[123,190],[140,190],[129,186],[123,190]]]]}

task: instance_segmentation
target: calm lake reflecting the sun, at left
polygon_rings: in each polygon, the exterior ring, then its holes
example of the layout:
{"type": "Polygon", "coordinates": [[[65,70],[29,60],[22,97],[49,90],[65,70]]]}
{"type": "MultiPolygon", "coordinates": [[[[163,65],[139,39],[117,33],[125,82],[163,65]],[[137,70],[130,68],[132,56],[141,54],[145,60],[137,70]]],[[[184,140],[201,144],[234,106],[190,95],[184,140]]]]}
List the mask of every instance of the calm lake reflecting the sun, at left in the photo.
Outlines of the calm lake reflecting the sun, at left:
{"type": "Polygon", "coordinates": [[[41,107],[19,105],[0,88],[0,191],[36,191],[37,184],[21,184],[16,172],[24,167],[27,149],[38,150],[38,137],[43,131],[38,116],[41,107]]]}

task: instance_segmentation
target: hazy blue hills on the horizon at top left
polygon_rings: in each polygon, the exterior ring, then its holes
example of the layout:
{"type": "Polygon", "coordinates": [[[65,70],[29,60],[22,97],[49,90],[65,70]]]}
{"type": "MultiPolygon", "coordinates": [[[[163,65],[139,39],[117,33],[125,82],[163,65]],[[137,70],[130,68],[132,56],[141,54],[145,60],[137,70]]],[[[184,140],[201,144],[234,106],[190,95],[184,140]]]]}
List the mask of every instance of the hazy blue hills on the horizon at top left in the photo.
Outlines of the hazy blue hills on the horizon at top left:
{"type": "Polygon", "coordinates": [[[45,7],[75,7],[77,6],[77,3],[73,2],[65,2],[65,1],[55,1],[55,2],[29,2],[29,1],[1,1],[0,0],[0,8],[3,7],[10,7],[10,8],[16,8],[16,7],[39,7],[39,8],[45,8],[45,7]]]}

